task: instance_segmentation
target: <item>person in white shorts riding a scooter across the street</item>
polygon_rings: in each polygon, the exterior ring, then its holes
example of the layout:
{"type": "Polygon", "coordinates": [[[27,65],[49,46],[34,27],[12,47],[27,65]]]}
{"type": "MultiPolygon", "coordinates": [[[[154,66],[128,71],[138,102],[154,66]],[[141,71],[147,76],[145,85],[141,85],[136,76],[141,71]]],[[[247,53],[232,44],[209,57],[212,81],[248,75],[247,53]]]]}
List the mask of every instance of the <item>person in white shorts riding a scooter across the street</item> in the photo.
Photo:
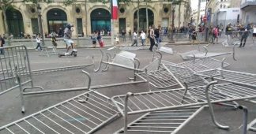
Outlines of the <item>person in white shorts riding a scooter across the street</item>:
{"type": "Polygon", "coordinates": [[[67,24],[66,28],[64,29],[64,42],[66,43],[66,53],[65,55],[70,54],[69,50],[70,48],[73,49],[73,51],[77,51],[75,49],[76,44],[72,40],[72,32],[73,32],[73,24],[67,24]]]}

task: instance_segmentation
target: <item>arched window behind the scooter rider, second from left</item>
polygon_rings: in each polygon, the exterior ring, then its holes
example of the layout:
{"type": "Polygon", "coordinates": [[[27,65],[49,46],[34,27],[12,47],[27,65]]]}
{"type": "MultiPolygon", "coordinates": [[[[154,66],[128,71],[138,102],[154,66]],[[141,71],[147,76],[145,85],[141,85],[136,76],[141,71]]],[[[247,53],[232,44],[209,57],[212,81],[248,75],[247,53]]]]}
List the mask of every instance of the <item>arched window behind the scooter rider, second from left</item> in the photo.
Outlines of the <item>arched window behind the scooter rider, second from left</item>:
{"type": "Polygon", "coordinates": [[[62,31],[66,23],[66,13],[62,9],[50,9],[47,12],[48,32],[55,32],[59,36],[62,36],[62,31]]]}

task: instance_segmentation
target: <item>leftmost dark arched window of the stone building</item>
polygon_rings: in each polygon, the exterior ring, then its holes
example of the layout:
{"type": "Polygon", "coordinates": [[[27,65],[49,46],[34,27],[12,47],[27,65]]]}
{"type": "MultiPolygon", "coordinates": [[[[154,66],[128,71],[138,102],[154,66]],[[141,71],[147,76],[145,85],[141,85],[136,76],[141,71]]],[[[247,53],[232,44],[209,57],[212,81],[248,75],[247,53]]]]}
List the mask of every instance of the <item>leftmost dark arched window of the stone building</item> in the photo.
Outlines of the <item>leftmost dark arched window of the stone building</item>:
{"type": "Polygon", "coordinates": [[[17,9],[6,10],[6,20],[8,23],[9,34],[13,34],[13,37],[19,37],[20,33],[24,33],[23,18],[20,11],[17,9]]]}

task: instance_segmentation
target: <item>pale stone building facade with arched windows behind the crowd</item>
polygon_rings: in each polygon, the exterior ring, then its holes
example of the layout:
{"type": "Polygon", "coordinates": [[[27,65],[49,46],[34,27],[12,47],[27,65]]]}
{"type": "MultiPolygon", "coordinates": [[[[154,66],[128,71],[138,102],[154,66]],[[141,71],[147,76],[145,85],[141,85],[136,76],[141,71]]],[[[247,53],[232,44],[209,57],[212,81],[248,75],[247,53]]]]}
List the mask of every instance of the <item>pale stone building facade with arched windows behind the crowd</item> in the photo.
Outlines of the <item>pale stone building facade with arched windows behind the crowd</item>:
{"type": "MultiPolygon", "coordinates": [[[[70,6],[64,6],[62,1],[51,3],[40,2],[42,8],[43,33],[55,32],[61,34],[67,23],[74,24],[74,35],[91,35],[94,31],[111,31],[111,7],[110,3],[76,1],[70,6]]],[[[146,29],[146,7],[149,13],[149,25],[161,25],[163,28],[171,26],[172,8],[171,2],[139,2],[139,29],[146,29]]],[[[2,11],[0,11],[0,33],[5,33],[2,11]]],[[[39,15],[36,5],[31,2],[14,1],[13,9],[6,11],[9,33],[19,36],[21,32],[35,35],[39,32],[39,15]]],[[[190,21],[190,1],[183,0],[180,6],[175,8],[175,27],[186,26],[190,21]],[[177,19],[179,18],[179,19],[177,19]]],[[[115,33],[125,30],[128,33],[137,30],[137,1],[129,5],[120,4],[119,20],[114,22],[115,33]]]]}

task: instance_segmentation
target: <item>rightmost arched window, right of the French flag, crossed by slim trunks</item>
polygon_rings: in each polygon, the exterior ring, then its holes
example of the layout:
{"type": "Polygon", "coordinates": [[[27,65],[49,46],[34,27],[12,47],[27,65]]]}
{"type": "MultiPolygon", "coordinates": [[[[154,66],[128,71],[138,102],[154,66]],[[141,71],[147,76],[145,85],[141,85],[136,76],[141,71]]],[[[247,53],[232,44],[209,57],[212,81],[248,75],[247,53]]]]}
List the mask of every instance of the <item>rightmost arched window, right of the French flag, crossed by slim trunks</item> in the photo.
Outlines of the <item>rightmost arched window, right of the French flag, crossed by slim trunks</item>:
{"type": "MultiPolygon", "coordinates": [[[[154,13],[151,9],[148,9],[148,16],[149,16],[149,26],[154,24],[154,13]]],[[[139,10],[139,28],[143,29],[144,31],[147,29],[147,20],[146,20],[146,9],[141,8],[139,10]]],[[[134,13],[134,30],[137,30],[137,10],[134,13]]]]}

